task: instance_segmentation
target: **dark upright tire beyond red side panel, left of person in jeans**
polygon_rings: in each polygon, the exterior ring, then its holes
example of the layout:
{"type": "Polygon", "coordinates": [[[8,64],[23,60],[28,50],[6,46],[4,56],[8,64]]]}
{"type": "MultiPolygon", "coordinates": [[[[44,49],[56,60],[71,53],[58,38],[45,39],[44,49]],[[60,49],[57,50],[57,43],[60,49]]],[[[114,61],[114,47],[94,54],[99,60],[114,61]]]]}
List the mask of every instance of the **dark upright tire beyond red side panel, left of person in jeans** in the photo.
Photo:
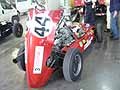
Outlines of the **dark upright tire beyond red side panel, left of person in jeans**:
{"type": "Polygon", "coordinates": [[[102,22],[96,23],[96,37],[97,37],[97,42],[102,42],[103,41],[103,30],[104,29],[104,24],[102,22]]]}

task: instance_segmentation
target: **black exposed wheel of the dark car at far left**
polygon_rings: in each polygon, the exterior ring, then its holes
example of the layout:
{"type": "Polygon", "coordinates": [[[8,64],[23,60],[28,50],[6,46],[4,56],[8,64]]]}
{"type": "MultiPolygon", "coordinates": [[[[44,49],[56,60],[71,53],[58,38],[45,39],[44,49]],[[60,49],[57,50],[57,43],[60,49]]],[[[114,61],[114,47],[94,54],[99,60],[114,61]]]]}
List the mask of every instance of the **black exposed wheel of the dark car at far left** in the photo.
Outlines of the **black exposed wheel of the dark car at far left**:
{"type": "Polygon", "coordinates": [[[13,25],[13,34],[14,34],[14,36],[15,37],[22,37],[22,35],[23,35],[23,27],[22,27],[22,25],[20,24],[20,23],[15,23],[14,25],[13,25]]]}

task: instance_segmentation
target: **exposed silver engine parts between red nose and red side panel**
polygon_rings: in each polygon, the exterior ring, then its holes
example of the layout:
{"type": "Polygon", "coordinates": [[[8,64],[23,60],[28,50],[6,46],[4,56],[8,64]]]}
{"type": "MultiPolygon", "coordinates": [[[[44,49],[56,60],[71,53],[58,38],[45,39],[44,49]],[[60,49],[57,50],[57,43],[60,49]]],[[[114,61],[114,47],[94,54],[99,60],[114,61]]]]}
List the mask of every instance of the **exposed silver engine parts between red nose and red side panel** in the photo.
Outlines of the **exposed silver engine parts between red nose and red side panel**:
{"type": "Polygon", "coordinates": [[[69,16],[64,16],[58,26],[59,28],[56,30],[55,35],[54,48],[59,51],[63,47],[69,46],[72,42],[75,41],[74,34],[76,34],[78,38],[84,34],[84,30],[80,24],[77,23],[74,25],[69,16]]]}

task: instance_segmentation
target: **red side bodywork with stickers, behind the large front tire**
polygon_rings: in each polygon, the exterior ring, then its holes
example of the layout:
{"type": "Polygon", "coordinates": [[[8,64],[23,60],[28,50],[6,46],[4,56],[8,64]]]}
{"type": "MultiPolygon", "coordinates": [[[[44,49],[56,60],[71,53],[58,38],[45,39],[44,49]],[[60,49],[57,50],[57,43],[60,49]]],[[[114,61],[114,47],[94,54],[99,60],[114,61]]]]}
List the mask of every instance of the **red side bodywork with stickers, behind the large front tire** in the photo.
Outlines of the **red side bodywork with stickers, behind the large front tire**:
{"type": "Polygon", "coordinates": [[[80,50],[81,53],[83,53],[88,47],[89,45],[92,43],[93,39],[94,39],[94,26],[89,26],[86,27],[86,24],[80,24],[82,26],[82,28],[85,31],[85,34],[81,37],[78,38],[75,35],[75,42],[72,43],[70,45],[70,47],[64,47],[62,50],[66,51],[69,48],[78,48],[80,50]],[[81,46],[80,43],[82,43],[83,45],[81,46]]]}

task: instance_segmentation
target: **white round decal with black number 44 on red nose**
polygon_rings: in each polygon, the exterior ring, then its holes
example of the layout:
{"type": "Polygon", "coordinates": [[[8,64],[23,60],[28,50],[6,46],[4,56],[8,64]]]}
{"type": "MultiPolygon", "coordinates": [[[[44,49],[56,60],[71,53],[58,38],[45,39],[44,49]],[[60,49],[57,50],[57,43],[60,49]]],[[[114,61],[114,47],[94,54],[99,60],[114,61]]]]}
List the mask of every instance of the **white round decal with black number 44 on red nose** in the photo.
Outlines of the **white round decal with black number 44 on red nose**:
{"type": "Polygon", "coordinates": [[[46,13],[41,13],[34,15],[29,27],[35,36],[45,38],[52,32],[53,22],[46,13]]]}

